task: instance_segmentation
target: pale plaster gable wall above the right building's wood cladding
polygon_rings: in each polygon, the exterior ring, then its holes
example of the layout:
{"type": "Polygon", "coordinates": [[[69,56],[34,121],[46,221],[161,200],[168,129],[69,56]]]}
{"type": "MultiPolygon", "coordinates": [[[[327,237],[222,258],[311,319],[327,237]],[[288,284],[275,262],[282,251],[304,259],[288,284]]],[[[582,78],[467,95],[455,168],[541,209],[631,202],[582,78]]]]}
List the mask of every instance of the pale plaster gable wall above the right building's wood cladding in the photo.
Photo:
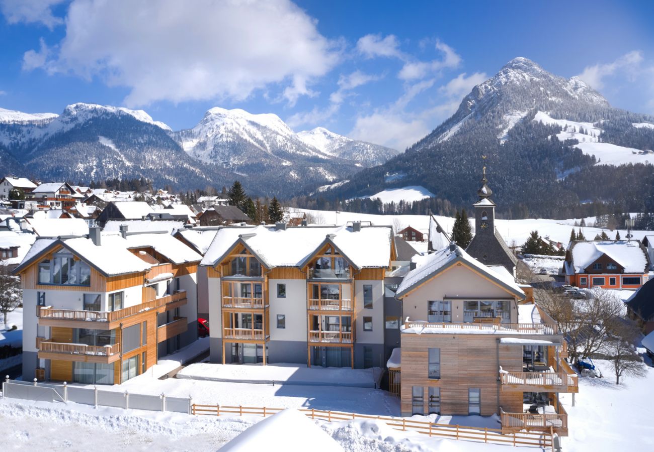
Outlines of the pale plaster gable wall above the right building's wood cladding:
{"type": "MultiPolygon", "coordinates": [[[[404,319],[409,317],[412,321],[427,320],[429,300],[443,300],[445,298],[462,298],[484,300],[492,298],[513,299],[512,295],[479,276],[464,266],[455,266],[446,270],[436,278],[424,283],[402,299],[404,319]]],[[[463,321],[463,301],[452,301],[452,321],[463,321]]],[[[517,310],[515,302],[511,303],[511,323],[517,323],[517,310]]]]}

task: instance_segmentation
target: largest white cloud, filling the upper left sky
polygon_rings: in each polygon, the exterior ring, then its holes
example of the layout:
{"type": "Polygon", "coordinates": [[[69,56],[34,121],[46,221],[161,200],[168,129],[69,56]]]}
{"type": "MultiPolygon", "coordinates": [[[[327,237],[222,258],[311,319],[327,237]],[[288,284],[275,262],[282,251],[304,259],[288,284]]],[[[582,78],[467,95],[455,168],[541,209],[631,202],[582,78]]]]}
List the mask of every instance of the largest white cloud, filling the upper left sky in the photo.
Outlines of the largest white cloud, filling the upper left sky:
{"type": "Polygon", "coordinates": [[[128,106],[243,100],[279,85],[291,105],[339,61],[339,50],[288,0],[74,0],[66,36],[26,53],[24,67],[126,86],[128,106]],[[47,49],[47,48],[46,48],[47,49]]]}

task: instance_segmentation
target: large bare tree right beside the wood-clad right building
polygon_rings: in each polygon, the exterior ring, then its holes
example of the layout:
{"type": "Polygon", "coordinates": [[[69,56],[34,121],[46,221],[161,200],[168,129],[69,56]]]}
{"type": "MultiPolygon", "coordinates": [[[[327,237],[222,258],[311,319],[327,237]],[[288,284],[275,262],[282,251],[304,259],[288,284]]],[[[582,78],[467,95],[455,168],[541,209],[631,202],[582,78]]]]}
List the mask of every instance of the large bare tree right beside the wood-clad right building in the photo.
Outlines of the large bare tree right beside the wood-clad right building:
{"type": "Polygon", "coordinates": [[[588,299],[573,300],[564,293],[539,291],[538,305],[559,324],[574,361],[600,351],[619,336],[624,322],[623,302],[609,291],[593,291],[588,299]]]}

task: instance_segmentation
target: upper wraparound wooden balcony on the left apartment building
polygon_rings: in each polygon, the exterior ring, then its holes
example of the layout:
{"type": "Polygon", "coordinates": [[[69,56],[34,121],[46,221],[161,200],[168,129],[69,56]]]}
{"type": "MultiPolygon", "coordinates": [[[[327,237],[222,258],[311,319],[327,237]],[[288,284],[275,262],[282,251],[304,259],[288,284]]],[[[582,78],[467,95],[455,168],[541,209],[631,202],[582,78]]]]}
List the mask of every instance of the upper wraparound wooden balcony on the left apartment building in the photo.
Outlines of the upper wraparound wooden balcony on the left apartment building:
{"type": "Polygon", "coordinates": [[[186,291],[179,291],[173,295],[166,295],[158,299],[146,301],[129,308],[123,308],[112,312],[101,311],[84,311],[84,310],[69,310],[69,309],[52,309],[46,306],[38,306],[37,316],[39,317],[39,325],[46,325],[52,327],[72,327],[79,328],[80,325],[75,325],[75,322],[85,322],[90,325],[90,322],[95,323],[95,329],[114,329],[117,325],[112,325],[113,322],[120,321],[131,315],[140,314],[141,312],[165,308],[165,310],[177,308],[186,304],[186,291]]]}

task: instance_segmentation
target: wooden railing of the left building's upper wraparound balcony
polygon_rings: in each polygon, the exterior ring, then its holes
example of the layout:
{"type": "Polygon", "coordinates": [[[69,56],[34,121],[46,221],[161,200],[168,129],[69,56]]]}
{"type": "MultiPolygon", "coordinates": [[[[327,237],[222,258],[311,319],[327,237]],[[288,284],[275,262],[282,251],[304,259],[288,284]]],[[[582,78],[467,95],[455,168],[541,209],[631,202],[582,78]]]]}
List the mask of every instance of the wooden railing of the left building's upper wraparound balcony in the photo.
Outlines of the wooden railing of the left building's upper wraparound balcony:
{"type": "Polygon", "coordinates": [[[166,295],[159,299],[146,301],[136,304],[135,306],[129,306],[129,308],[123,308],[112,312],[52,309],[46,306],[39,306],[39,318],[48,320],[112,322],[124,319],[130,315],[139,314],[139,312],[161,308],[166,304],[179,302],[184,299],[186,299],[186,291],[179,291],[173,295],[166,295]]]}

